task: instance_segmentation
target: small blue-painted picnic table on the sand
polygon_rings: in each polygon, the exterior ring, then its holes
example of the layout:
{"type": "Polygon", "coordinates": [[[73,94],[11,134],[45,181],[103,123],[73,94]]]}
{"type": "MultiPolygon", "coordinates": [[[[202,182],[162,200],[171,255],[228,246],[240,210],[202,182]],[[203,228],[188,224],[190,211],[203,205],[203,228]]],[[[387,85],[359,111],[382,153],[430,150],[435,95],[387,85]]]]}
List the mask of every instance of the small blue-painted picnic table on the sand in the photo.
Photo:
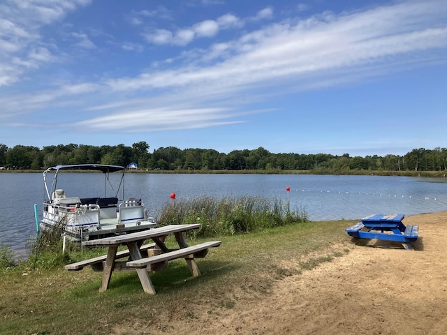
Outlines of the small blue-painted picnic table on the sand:
{"type": "Polygon", "coordinates": [[[412,249],[409,243],[418,239],[418,225],[402,223],[404,214],[373,214],[362,218],[361,222],[346,228],[349,236],[360,239],[381,239],[401,242],[404,248],[412,249]]]}

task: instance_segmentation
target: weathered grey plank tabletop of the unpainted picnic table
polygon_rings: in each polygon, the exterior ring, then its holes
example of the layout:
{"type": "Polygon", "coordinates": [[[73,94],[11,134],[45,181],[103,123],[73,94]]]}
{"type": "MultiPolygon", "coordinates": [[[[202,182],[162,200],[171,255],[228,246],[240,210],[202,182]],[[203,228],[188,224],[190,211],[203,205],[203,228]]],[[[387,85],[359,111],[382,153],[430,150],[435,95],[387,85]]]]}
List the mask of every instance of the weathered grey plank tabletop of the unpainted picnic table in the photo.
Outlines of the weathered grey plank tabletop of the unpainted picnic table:
{"type": "Polygon", "coordinates": [[[131,241],[140,241],[142,239],[151,239],[152,237],[159,237],[175,232],[185,232],[186,230],[193,230],[200,227],[200,223],[193,223],[191,225],[165,225],[159,228],[143,230],[142,232],[132,232],[130,234],[122,234],[117,236],[105,237],[103,239],[92,239],[82,242],[85,246],[112,246],[124,244],[131,241]]]}

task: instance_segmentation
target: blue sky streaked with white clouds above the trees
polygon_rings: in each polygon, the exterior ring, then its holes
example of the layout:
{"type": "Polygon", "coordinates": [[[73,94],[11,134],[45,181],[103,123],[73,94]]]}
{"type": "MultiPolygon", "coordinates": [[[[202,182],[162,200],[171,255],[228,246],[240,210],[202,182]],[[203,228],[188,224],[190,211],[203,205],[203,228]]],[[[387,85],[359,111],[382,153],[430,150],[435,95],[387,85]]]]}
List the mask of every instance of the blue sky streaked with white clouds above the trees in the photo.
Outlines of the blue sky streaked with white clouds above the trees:
{"type": "Polygon", "coordinates": [[[446,0],[0,0],[0,143],[447,147],[446,0]]]}

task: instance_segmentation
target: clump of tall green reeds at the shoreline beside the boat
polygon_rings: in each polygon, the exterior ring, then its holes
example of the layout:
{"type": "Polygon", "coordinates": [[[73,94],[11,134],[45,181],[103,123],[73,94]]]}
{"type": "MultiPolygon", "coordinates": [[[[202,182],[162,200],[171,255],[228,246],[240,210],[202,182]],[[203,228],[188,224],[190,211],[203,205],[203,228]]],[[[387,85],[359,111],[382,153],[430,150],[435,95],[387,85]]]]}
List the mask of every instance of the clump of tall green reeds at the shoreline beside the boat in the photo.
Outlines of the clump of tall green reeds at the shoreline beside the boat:
{"type": "Polygon", "coordinates": [[[200,223],[196,236],[251,232],[307,221],[304,207],[291,209],[290,202],[254,196],[213,198],[209,196],[168,202],[159,212],[160,225],[200,223]]]}

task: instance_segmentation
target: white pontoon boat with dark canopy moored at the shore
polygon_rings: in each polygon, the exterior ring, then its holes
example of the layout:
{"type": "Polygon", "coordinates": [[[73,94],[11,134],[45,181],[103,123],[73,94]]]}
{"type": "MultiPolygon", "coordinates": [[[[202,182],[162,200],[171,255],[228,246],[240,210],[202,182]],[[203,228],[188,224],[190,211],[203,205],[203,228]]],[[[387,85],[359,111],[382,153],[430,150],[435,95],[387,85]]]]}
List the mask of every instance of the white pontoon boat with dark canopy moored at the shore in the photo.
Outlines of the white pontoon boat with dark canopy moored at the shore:
{"type": "Polygon", "coordinates": [[[57,165],[47,168],[43,172],[45,189],[40,228],[45,230],[59,227],[68,239],[86,241],[156,227],[155,218],[148,216],[141,199],[124,200],[125,171],[123,166],[103,164],[57,165]],[[105,179],[103,197],[80,198],[58,188],[57,179],[60,170],[103,172],[105,179]],[[54,172],[54,178],[51,186],[48,187],[47,177],[50,172],[54,172]],[[122,172],[122,176],[116,193],[110,197],[107,192],[108,188],[113,189],[109,179],[109,174],[112,172],[122,172]],[[122,190],[122,198],[118,199],[120,190],[122,190]]]}

